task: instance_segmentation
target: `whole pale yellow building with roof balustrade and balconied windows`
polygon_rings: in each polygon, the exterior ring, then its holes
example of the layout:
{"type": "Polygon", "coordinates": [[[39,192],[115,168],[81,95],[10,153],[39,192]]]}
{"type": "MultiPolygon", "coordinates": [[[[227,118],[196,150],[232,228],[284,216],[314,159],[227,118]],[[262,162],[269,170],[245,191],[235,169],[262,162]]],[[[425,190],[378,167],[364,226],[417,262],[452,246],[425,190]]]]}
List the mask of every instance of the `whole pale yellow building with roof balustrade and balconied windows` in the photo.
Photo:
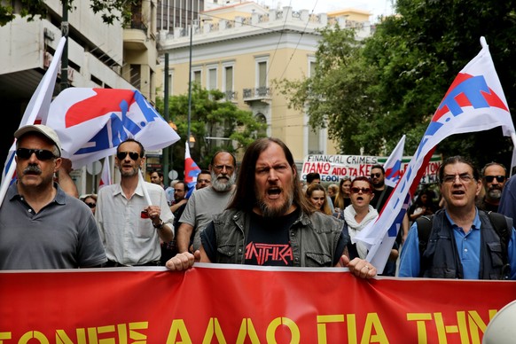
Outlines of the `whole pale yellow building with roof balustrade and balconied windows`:
{"type": "MultiPolygon", "coordinates": [[[[270,9],[252,2],[228,4],[202,12],[184,35],[160,31],[160,74],[168,53],[171,95],[185,94],[189,73],[204,88],[222,90],[226,99],[267,123],[267,135],[285,141],[294,158],[309,153],[336,153],[325,129],[309,127],[308,115],[288,107],[276,82],[299,80],[314,71],[320,34],[317,29],[339,23],[369,35],[371,13],[357,10],[310,14],[291,7],[270,9]],[[192,43],[192,65],[190,48],[192,43]]],[[[158,87],[160,97],[163,87],[158,87]]]]}

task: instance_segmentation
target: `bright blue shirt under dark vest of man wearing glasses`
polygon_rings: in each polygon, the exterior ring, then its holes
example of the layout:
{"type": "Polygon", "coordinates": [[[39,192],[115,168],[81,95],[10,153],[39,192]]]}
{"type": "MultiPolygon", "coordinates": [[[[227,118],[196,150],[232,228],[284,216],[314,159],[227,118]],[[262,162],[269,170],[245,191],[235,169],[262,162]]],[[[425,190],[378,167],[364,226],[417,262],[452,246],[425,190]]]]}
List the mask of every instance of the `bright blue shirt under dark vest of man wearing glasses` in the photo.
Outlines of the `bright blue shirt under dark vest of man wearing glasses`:
{"type": "MultiPolygon", "coordinates": [[[[462,264],[464,278],[479,279],[481,266],[481,219],[478,209],[476,210],[472,228],[467,233],[450,219],[446,211],[445,215],[453,228],[453,236],[462,264]]],[[[508,246],[511,279],[516,279],[516,245],[514,245],[514,242],[516,242],[516,231],[512,228],[511,240],[508,246]]],[[[398,276],[403,278],[417,278],[419,276],[419,264],[418,225],[414,222],[403,244],[398,276]]]]}

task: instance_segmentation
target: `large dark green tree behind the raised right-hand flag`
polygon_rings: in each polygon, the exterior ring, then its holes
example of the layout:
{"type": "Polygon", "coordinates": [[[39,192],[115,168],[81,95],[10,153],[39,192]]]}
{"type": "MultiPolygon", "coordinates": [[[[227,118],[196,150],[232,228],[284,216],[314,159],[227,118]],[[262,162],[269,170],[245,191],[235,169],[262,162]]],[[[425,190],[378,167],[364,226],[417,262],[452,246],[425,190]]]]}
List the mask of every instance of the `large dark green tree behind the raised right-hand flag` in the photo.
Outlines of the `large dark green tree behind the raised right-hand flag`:
{"type": "MultiPolygon", "coordinates": [[[[451,82],[481,51],[482,35],[514,113],[515,9],[515,1],[398,0],[399,15],[383,21],[364,43],[367,64],[381,72],[376,92],[379,111],[405,122],[393,137],[408,135],[405,152],[415,151],[451,82]]],[[[389,117],[387,122],[395,123],[389,117]]],[[[510,139],[498,128],[452,136],[436,152],[467,155],[481,167],[491,160],[509,164],[511,148],[510,139]]]]}

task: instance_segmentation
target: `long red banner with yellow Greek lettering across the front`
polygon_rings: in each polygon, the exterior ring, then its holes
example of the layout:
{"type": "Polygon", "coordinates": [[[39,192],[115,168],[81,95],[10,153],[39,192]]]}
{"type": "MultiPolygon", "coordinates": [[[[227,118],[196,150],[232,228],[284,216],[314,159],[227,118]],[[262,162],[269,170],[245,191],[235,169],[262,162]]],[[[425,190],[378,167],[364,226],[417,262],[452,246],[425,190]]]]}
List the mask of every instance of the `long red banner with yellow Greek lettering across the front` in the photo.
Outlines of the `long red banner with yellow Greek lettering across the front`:
{"type": "Polygon", "coordinates": [[[0,343],[480,343],[514,299],[512,281],[337,268],[3,271],[0,343]]]}

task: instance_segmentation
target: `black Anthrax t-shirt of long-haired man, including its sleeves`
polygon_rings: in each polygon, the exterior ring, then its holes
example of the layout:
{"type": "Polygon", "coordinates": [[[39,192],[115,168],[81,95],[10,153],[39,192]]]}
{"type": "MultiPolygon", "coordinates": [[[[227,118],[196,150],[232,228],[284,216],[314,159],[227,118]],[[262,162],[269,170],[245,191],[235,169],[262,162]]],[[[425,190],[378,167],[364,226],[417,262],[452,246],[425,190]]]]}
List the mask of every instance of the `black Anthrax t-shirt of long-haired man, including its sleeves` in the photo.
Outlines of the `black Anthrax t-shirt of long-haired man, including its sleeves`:
{"type": "MultiPolygon", "coordinates": [[[[289,229],[299,218],[297,209],[291,214],[268,218],[251,212],[249,233],[246,238],[246,264],[263,266],[293,266],[292,246],[290,245],[289,229]]],[[[215,226],[208,224],[200,233],[202,246],[211,262],[216,262],[217,242],[215,226]]],[[[335,265],[340,260],[346,243],[340,236],[336,249],[335,265]]]]}

